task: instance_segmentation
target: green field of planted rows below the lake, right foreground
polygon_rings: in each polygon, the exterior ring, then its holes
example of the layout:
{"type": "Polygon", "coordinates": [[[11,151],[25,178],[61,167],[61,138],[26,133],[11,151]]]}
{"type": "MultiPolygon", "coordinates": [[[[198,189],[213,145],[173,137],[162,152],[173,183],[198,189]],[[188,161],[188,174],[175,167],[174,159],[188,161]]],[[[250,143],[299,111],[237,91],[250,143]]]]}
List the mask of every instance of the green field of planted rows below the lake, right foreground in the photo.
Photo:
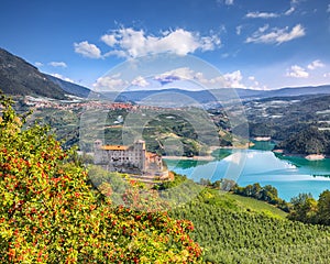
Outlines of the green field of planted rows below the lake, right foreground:
{"type": "MultiPolygon", "coordinates": [[[[329,263],[330,228],[310,226],[250,211],[228,204],[223,195],[205,190],[172,216],[194,222],[193,239],[211,263],[329,263]],[[212,201],[207,197],[212,196],[212,201]]],[[[229,199],[227,199],[230,202],[229,199]]]]}

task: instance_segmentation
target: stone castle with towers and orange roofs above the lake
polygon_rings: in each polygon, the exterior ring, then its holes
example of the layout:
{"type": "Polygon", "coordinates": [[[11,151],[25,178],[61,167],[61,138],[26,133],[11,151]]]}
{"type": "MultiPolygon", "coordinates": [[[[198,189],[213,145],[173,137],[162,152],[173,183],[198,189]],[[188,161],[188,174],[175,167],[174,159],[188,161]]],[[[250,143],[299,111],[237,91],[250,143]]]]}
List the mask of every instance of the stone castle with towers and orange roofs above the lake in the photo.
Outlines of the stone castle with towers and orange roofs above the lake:
{"type": "Polygon", "coordinates": [[[167,177],[163,168],[162,156],[145,150],[145,142],[135,141],[133,145],[103,145],[95,141],[95,164],[102,165],[110,172],[131,173],[167,177]]]}

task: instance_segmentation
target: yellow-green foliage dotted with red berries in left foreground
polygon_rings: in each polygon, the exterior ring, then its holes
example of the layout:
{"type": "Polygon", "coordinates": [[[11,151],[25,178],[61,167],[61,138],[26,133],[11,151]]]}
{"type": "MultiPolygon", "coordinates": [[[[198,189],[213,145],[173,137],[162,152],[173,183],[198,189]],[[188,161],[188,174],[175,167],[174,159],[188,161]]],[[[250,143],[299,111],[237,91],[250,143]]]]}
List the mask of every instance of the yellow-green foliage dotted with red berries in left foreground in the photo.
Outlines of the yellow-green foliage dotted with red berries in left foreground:
{"type": "Polygon", "coordinates": [[[187,220],[114,206],[46,128],[0,114],[1,263],[198,263],[187,220]]]}

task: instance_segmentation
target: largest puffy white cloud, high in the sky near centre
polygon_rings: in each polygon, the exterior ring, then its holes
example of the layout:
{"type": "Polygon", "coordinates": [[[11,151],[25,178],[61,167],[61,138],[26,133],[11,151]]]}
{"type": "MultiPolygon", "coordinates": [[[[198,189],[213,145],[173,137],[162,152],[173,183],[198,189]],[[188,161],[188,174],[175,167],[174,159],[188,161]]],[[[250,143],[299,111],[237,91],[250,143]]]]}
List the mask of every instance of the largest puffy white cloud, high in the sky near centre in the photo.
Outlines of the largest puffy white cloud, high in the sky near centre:
{"type": "Polygon", "coordinates": [[[170,52],[177,55],[187,55],[197,50],[213,51],[221,45],[217,34],[200,36],[198,32],[183,29],[162,32],[161,35],[147,35],[143,30],[119,29],[101,36],[101,40],[113,50],[105,56],[139,57],[147,54],[170,52]]]}

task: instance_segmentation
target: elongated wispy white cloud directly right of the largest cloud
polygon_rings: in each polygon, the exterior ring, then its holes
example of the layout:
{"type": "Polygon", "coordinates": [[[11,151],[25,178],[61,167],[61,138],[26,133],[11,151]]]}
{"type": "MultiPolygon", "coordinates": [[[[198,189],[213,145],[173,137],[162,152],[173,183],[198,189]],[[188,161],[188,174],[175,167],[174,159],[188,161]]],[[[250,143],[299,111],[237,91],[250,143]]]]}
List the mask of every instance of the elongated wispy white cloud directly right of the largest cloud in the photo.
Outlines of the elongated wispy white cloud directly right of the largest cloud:
{"type": "Polygon", "coordinates": [[[305,29],[297,24],[290,31],[288,26],[284,29],[272,29],[271,32],[264,33],[265,29],[260,28],[256,32],[252,34],[252,36],[246,38],[246,43],[267,43],[267,44],[282,44],[284,42],[289,42],[297,37],[304,36],[305,29]]]}

